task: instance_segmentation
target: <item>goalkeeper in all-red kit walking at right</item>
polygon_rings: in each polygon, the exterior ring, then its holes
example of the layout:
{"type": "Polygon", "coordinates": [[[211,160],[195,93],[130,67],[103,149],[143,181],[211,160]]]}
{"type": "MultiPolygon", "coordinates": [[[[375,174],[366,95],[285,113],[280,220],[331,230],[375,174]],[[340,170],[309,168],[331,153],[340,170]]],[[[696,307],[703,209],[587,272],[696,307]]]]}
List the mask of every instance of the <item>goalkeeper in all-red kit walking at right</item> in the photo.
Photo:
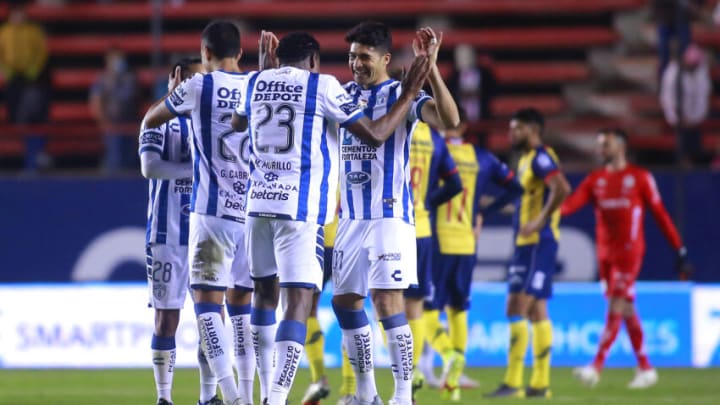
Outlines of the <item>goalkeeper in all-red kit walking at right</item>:
{"type": "Polygon", "coordinates": [[[676,267],[682,277],[687,277],[690,272],[687,249],[663,205],[650,172],[628,163],[625,132],[621,129],[600,130],[597,142],[603,167],[592,171],[561,207],[565,216],[592,203],[600,280],[608,299],[605,329],[595,359],[591,365],[576,368],[573,374],[589,386],[600,381],[605,358],[624,322],[638,361],[638,370],[628,388],[647,388],[657,383],[658,376],[645,354],[643,330],[635,310],[635,280],[645,255],[645,209],[650,210],[677,252],[676,267]]]}

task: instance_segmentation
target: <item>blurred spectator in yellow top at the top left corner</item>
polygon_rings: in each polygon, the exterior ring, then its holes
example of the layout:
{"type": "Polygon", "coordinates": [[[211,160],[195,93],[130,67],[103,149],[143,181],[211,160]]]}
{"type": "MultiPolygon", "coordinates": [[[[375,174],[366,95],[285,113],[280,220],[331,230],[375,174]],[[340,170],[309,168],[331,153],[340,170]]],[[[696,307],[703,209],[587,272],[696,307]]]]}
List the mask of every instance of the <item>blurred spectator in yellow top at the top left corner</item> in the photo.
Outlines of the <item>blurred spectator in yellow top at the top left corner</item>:
{"type": "MultiPolygon", "coordinates": [[[[42,28],[27,20],[25,7],[16,2],[8,21],[0,26],[0,74],[5,77],[5,105],[10,124],[47,122],[50,108],[48,51],[42,28]]],[[[48,165],[45,138],[25,135],[25,168],[48,165]]]]}

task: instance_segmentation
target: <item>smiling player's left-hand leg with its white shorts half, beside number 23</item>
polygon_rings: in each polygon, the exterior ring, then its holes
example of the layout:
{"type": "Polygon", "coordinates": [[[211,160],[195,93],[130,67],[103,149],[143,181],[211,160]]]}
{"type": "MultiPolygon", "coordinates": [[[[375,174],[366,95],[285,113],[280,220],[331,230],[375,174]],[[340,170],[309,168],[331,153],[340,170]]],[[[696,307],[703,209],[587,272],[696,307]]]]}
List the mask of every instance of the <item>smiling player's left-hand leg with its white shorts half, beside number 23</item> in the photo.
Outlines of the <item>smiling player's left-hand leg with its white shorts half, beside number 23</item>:
{"type": "Polygon", "coordinates": [[[363,309],[370,267],[363,243],[369,222],[340,219],[332,264],[333,310],[355,373],[355,396],[362,404],[371,404],[377,397],[372,330],[363,309]]]}

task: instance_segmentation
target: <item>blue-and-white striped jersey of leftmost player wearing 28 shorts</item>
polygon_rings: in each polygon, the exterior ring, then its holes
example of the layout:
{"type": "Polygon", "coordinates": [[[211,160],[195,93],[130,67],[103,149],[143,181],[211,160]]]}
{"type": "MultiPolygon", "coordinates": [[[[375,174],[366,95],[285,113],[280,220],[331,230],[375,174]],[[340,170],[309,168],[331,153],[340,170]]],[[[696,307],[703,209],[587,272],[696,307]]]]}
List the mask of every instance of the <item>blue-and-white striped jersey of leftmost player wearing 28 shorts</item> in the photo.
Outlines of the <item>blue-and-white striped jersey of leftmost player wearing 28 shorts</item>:
{"type": "MultiPolygon", "coordinates": [[[[177,117],[140,133],[139,154],[158,153],[162,160],[190,164],[190,120],[177,117]]],[[[147,244],[187,246],[192,179],[150,179],[147,244]]]]}

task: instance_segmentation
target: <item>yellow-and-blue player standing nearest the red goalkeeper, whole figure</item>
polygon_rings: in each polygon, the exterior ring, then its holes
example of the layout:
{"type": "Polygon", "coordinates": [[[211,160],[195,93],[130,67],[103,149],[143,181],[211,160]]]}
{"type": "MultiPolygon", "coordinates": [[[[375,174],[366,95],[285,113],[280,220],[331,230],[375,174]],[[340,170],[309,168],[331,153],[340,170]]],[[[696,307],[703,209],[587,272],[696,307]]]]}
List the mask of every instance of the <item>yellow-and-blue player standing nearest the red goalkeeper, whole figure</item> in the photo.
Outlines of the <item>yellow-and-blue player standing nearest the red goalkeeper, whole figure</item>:
{"type": "Polygon", "coordinates": [[[552,296],[558,241],[560,204],[570,185],[552,148],[543,145],[545,121],[533,108],[524,108],[510,120],[510,139],[522,152],[518,178],[524,191],[514,218],[515,253],[508,274],[507,317],[510,349],[504,382],[491,397],[549,398],[552,324],[547,300],[552,296]],[[523,390],[523,366],[528,346],[527,319],[533,329],[533,370],[523,390]]]}

